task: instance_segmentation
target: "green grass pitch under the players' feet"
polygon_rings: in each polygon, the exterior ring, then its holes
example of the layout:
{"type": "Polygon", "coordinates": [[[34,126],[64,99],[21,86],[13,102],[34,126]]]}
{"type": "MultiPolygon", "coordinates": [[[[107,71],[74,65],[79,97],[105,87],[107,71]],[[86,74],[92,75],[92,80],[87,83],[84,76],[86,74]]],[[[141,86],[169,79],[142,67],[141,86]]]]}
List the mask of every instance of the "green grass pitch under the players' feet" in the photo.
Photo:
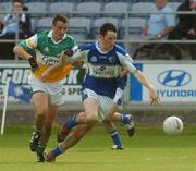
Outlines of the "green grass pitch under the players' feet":
{"type": "MultiPolygon", "coordinates": [[[[185,126],[177,136],[161,127],[137,126],[130,138],[119,126],[124,150],[111,150],[111,139],[96,126],[54,163],[36,163],[28,149],[32,126],[9,125],[0,136],[0,171],[196,171],[196,126],[185,126]]],[[[47,150],[54,147],[57,127],[47,150]]]]}

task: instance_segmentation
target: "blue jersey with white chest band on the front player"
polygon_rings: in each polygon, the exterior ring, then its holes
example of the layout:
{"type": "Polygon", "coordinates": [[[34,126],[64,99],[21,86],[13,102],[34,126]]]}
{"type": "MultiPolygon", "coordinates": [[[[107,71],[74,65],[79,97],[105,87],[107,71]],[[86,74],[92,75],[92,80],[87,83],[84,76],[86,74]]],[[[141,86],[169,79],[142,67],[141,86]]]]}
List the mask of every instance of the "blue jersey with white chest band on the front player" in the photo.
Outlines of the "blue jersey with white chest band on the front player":
{"type": "MultiPolygon", "coordinates": [[[[87,74],[82,88],[89,88],[101,96],[113,98],[118,87],[124,89],[126,76],[120,78],[120,73],[124,68],[124,61],[132,59],[122,47],[115,45],[107,52],[102,52],[98,42],[86,44],[81,47],[81,53],[85,54],[87,74]]],[[[136,70],[132,65],[132,70],[136,70]]]]}

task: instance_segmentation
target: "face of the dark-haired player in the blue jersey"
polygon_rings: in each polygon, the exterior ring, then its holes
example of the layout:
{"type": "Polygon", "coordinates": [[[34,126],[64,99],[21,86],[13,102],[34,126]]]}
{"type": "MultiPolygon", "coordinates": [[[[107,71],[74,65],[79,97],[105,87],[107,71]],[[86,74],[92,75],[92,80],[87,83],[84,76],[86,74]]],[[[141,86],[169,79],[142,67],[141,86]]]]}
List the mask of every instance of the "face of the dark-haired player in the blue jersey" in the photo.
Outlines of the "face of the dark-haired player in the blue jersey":
{"type": "Polygon", "coordinates": [[[100,35],[100,42],[102,50],[111,49],[117,41],[117,33],[114,32],[107,32],[105,36],[100,35]]]}

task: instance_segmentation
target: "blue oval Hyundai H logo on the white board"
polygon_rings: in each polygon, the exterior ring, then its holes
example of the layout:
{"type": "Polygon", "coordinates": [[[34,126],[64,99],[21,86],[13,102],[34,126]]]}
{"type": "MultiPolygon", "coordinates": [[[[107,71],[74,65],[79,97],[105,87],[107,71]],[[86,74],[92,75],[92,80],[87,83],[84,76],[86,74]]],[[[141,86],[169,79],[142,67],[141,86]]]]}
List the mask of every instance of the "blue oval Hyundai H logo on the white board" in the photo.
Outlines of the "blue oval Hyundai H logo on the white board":
{"type": "Polygon", "coordinates": [[[191,80],[191,74],[183,70],[167,70],[158,75],[158,82],[167,87],[182,87],[191,80]]]}

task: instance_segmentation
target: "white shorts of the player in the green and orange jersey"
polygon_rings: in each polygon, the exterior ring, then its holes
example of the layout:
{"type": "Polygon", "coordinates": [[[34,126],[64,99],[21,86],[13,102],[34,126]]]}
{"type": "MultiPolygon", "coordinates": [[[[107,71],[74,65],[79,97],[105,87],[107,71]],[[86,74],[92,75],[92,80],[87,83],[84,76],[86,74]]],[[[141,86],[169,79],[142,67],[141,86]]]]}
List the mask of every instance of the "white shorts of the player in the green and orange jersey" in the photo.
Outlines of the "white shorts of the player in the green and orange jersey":
{"type": "Polygon", "coordinates": [[[49,96],[50,105],[60,106],[63,103],[61,81],[56,83],[44,83],[30,74],[28,77],[28,84],[33,89],[33,94],[36,91],[46,93],[49,96]]]}

